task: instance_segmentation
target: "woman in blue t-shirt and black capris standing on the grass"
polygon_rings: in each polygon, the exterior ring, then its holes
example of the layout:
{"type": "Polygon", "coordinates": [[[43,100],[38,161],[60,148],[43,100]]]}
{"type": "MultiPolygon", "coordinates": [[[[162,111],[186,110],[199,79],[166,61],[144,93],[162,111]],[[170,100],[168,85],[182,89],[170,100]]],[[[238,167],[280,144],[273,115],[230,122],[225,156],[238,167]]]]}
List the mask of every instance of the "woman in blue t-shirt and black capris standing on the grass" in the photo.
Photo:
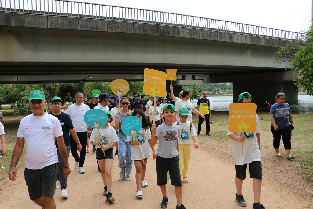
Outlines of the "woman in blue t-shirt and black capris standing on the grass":
{"type": "Polygon", "coordinates": [[[281,157],[279,153],[280,138],[283,137],[283,143],[286,152],[286,159],[295,159],[290,155],[292,136],[291,127],[293,127],[292,116],[289,104],[285,103],[285,93],[278,93],[276,96],[277,103],[273,104],[269,110],[271,116],[271,131],[273,134],[273,146],[277,157],[281,157]],[[290,123],[290,124],[289,124],[290,123]]]}

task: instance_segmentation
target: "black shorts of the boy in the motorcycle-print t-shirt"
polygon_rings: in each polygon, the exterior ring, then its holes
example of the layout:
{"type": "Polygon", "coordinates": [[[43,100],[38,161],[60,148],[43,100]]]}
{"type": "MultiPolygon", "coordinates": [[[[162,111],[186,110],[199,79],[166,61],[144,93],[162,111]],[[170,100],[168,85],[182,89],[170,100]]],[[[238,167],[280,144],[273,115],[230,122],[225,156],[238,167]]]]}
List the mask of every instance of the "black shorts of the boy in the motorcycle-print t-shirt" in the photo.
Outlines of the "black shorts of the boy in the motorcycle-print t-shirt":
{"type": "Polygon", "coordinates": [[[167,184],[167,170],[170,173],[171,185],[182,186],[182,179],[179,169],[179,157],[162,158],[156,155],[156,184],[158,186],[167,184]]]}

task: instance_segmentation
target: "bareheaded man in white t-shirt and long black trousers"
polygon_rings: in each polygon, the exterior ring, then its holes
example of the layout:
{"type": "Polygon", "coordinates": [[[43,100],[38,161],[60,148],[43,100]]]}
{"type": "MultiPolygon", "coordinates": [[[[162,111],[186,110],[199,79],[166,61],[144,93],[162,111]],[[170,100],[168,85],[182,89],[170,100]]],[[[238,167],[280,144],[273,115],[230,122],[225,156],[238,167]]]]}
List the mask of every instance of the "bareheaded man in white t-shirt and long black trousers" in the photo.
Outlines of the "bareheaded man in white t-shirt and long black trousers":
{"type": "MultiPolygon", "coordinates": [[[[84,163],[86,157],[86,146],[87,146],[87,124],[84,121],[85,113],[90,110],[89,106],[84,105],[84,95],[82,92],[76,92],[75,94],[76,102],[67,108],[67,114],[73,122],[73,126],[76,130],[77,136],[79,138],[80,144],[82,146],[80,150],[80,156],[77,153],[77,143],[75,142],[72,135],[69,135],[71,142],[71,153],[75,158],[74,169],[78,169],[81,174],[85,173],[84,163]]],[[[91,130],[91,129],[90,129],[91,130]]],[[[90,134],[91,135],[91,134],[90,134]]],[[[90,136],[89,136],[90,137],[90,136]]]]}

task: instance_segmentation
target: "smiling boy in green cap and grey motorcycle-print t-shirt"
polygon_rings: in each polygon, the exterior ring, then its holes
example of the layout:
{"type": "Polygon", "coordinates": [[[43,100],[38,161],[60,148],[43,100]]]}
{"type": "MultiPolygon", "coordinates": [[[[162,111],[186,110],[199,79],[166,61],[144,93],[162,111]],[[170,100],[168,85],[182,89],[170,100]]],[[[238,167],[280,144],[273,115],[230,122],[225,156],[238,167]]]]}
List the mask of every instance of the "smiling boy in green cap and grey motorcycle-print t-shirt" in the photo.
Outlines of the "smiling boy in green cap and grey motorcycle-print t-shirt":
{"type": "Polygon", "coordinates": [[[156,128],[152,125],[151,131],[151,145],[154,146],[159,139],[159,145],[156,149],[156,175],[157,185],[160,186],[163,199],[161,203],[162,208],[167,208],[167,171],[169,171],[171,178],[171,185],[175,186],[175,194],[177,199],[176,209],[186,209],[182,205],[182,179],[179,170],[178,157],[178,133],[180,133],[179,126],[173,124],[175,117],[175,107],[172,104],[166,104],[163,107],[163,115],[165,122],[156,128]]]}

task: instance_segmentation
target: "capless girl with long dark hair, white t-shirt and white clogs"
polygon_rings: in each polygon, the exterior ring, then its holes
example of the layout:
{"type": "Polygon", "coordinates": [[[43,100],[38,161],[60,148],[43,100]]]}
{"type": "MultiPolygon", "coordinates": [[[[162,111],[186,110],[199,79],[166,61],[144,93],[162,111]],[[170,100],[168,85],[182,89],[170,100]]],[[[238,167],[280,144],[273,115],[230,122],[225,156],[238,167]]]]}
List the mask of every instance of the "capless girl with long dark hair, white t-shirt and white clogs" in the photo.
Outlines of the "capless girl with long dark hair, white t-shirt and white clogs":
{"type": "MultiPolygon", "coordinates": [[[[148,183],[145,180],[145,175],[146,175],[147,160],[148,160],[148,157],[151,156],[149,145],[148,145],[148,143],[150,144],[151,133],[150,133],[150,128],[149,128],[149,124],[147,122],[146,116],[144,112],[142,112],[142,110],[135,109],[132,115],[140,118],[141,123],[142,123],[141,129],[136,136],[137,139],[132,136],[128,136],[126,139],[131,145],[131,159],[134,161],[134,164],[136,167],[136,185],[137,185],[136,197],[141,198],[143,197],[143,194],[142,194],[140,185],[143,188],[148,186],[148,183]],[[138,145],[141,149],[141,154],[142,154],[145,164],[142,163],[142,158],[141,158],[138,145]]],[[[152,156],[154,160],[156,158],[154,146],[150,144],[150,147],[152,149],[152,156]]]]}

